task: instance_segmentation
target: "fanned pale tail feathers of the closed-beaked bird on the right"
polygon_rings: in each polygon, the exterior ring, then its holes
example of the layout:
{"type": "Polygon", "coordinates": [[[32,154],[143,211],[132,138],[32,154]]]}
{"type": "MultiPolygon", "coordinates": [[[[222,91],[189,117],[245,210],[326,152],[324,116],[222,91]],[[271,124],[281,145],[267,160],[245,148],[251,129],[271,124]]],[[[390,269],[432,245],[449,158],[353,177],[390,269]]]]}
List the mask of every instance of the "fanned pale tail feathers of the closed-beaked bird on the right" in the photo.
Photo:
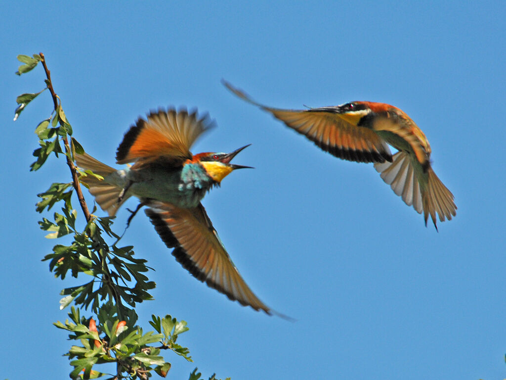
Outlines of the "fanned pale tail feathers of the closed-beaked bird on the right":
{"type": "Polygon", "coordinates": [[[456,215],[457,207],[453,202],[453,194],[431,167],[426,173],[421,167],[415,167],[409,154],[399,151],[393,156],[391,163],[376,163],[374,168],[408,206],[413,206],[419,214],[424,212],[425,225],[431,215],[437,230],[436,214],[440,221],[445,218],[451,220],[451,217],[456,215]]]}

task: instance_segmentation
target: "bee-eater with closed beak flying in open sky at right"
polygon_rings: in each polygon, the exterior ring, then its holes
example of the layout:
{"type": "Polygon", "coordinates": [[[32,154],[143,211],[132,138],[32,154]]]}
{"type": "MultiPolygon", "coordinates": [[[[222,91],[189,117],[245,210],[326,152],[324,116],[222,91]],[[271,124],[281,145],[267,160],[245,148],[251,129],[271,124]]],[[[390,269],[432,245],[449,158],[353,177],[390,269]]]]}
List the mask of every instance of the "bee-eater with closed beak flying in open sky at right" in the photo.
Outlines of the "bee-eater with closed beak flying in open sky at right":
{"type": "Polygon", "coordinates": [[[306,110],[277,109],[255,102],[230,83],[223,84],[239,98],[254,104],[305,135],[331,155],[348,161],[373,162],[383,180],[402,200],[434,226],[456,215],[453,194],[431,167],[431,146],[424,132],[393,105],[355,101],[306,110]],[[398,151],[392,156],[388,145],[398,151]]]}

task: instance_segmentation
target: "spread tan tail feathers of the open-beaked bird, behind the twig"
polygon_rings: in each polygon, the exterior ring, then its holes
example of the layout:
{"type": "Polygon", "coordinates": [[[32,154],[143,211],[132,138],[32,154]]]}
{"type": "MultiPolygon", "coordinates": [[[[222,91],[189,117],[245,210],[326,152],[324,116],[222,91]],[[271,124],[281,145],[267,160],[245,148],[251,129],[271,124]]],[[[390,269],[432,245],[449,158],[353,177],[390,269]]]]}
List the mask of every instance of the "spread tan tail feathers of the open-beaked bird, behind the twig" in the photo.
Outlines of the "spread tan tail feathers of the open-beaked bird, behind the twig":
{"type": "MultiPolygon", "coordinates": [[[[78,167],[85,170],[91,170],[102,177],[106,177],[116,171],[116,169],[101,163],[86,153],[82,155],[76,154],[75,162],[78,167]]],[[[109,214],[109,216],[116,215],[119,206],[121,206],[123,202],[129,198],[129,196],[125,196],[118,202],[122,189],[91,175],[81,178],[81,182],[84,182],[89,186],[90,193],[95,197],[95,201],[102,210],[109,214]]]]}

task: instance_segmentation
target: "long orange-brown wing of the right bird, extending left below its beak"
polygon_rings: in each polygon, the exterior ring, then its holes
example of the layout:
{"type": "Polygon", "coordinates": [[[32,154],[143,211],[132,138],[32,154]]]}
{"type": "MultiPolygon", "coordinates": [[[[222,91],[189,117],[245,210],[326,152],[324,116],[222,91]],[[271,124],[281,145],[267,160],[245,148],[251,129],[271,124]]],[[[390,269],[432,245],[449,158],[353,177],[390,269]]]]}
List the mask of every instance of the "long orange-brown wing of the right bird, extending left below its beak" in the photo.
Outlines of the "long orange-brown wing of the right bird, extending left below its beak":
{"type": "Polygon", "coordinates": [[[222,83],[239,98],[272,113],[291,129],[343,160],[356,162],[392,161],[386,141],[369,128],[357,127],[333,112],[335,107],[290,110],[271,108],[255,102],[230,83],[222,83]]]}

